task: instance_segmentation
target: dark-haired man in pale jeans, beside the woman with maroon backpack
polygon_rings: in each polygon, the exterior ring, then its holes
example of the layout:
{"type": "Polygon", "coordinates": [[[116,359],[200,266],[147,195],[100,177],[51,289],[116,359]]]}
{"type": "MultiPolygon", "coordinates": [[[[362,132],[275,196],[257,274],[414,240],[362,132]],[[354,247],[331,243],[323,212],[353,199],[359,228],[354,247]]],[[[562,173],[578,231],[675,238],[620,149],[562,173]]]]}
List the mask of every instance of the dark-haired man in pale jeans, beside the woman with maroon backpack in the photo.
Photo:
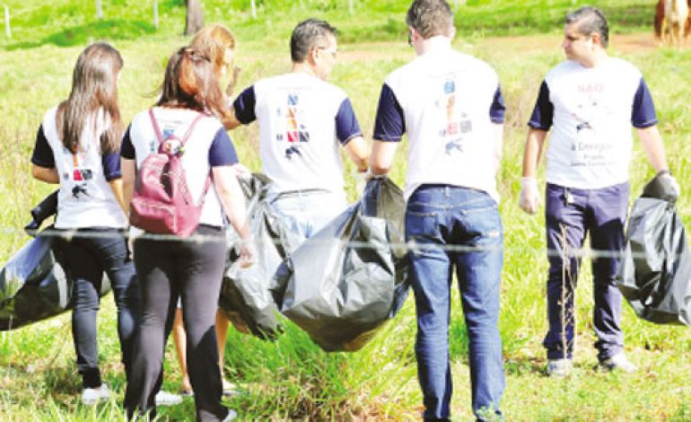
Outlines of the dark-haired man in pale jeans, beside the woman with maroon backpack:
{"type": "Polygon", "coordinates": [[[273,205],[305,238],[347,206],[340,148],[359,171],[370,153],[346,92],[326,81],[336,55],[335,28],[301,22],[291,37],[291,72],[258,81],[233,102],[230,127],[258,120],[273,205]]]}

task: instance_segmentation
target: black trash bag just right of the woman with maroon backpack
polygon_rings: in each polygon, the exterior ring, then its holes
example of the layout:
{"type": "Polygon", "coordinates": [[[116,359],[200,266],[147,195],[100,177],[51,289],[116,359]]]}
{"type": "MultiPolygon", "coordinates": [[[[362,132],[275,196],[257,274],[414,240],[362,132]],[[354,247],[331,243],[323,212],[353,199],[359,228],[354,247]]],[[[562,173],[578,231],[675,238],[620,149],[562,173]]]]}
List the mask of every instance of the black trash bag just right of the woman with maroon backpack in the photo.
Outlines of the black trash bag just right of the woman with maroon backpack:
{"type": "Polygon", "coordinates": [[[230,252],[219,306],[238,330],[272,339],[282,331],[278,307],[272,295],[276,289],[274,274],[299,241],[268,202],[270,181],[267,177],[253,174],[249,179],[239,180],[247,198],[247,215],[255,240],[256,257],[251,267],[241,267],[238,251],[233,248],[240,238],[229,225],[226,237],[230,252]]]}

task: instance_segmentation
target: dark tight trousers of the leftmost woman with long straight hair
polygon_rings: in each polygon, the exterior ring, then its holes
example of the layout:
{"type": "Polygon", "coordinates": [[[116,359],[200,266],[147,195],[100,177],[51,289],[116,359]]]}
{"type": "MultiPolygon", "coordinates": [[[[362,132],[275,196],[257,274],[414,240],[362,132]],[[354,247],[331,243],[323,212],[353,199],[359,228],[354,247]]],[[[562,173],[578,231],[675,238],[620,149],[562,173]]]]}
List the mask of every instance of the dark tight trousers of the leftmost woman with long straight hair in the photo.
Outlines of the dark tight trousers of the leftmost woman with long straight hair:
{"type": "Polygon", "coordinates": [[[83,387],[101,385],[96,315],[101,302],[101,281],[105,271],[118,307],[118,337],[122,362],[129,372],[132,345],[139,317],[139,290],[135,268],[129,259],[127,241],[121,230],[79,229],[66,241],[67,269],[74,277],[72,335],[77,367],[83,387]]]}

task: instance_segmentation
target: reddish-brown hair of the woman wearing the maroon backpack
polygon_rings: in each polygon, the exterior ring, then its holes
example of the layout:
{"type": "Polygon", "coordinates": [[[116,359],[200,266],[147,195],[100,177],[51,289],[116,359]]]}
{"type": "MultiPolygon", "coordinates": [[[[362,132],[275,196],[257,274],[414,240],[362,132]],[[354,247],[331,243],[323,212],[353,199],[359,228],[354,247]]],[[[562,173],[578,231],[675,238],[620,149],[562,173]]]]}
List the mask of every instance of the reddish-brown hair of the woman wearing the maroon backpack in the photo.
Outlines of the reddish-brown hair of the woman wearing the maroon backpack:
{"type": "Polygon", "coordinates": [[[211,60],[194,48],[179,48],[168,60],[158,106],[191,109],[224,119],[228,114],[211,60]]]}

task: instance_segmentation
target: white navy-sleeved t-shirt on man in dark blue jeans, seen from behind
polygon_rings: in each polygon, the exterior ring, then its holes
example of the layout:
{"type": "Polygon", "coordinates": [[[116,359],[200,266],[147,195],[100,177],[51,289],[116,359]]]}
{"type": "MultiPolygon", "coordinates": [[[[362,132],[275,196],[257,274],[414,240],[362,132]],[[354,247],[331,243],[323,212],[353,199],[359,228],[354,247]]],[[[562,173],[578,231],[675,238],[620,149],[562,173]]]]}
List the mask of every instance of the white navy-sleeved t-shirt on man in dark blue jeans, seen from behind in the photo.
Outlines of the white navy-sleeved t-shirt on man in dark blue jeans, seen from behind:
{"type": "Polygon", "coordinates": [[[444,184],[483,190],[498,202],[493,123],[503,115],[494,69],[437,48],[386,78],[374,139],[400,142],[407,131],[406,198],[423,184],[444,184]]]}

